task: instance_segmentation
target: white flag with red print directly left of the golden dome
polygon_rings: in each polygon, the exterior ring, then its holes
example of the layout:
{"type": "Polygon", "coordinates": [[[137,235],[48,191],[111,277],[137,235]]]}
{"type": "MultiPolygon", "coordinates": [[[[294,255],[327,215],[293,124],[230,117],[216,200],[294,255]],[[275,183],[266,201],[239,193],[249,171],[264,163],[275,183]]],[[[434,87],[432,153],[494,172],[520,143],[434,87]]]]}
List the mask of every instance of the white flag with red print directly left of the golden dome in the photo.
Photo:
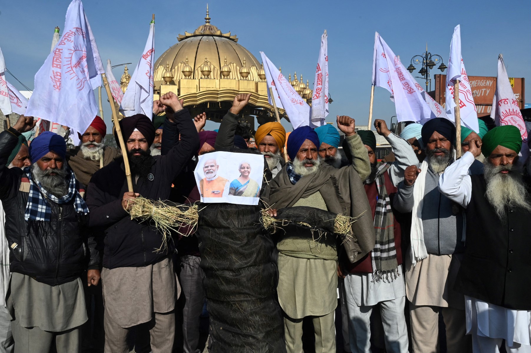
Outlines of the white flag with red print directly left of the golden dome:
{"type": "Polygon", "coordinates": [[[124,116],[144,114],[153,116],[153,64],[155,64],[155,21],[151,21],[148,41],[143,51],[127,91],[122,98],[120,111],[124,116]]]}

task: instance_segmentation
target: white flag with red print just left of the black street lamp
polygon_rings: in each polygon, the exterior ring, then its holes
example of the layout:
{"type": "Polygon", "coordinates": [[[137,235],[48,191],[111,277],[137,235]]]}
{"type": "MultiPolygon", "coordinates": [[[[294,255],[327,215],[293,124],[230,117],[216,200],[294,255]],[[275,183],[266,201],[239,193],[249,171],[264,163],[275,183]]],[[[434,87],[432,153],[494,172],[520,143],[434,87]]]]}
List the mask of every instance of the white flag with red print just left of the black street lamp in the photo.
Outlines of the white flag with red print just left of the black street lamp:
{"type": "Polygon", "coordinates": [[[416,86],[418,83],[378,32],[374,36],[372,84],[383,87],[391,93],[399,122],[424,123],[435,117],[421,92],[418,91],[416,86]]]}

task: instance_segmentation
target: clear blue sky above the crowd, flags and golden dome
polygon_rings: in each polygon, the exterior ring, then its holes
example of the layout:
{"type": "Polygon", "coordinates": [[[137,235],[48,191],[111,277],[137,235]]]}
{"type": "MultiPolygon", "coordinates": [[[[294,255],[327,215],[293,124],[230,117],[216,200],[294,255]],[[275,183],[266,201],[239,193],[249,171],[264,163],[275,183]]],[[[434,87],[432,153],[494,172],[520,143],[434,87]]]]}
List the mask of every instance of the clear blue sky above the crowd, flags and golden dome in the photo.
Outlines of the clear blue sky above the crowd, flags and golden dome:
{"type": "MultiPolygon", "coordinates": [[[[6,66],[33,89],[33,77],[50,52],[53,30],[63,29],[68,0],[2,2],[0,22],[6,66]]],[[[204,23],[206,2],[85,0],[85,12],[104,65],[133,63],[148,36],[151,14],[156,15],[157,57],[177,42],[177,34],[204,23]]],[[[313,81],[320,37],[328,30],[330,105],[328,121],[348,115],[357,125],[369,116],[374,32],[378,31],[402,63],[421,54],[428,43],[432,54],[448,63],[453,28],[461,25],[462,53],[470,76],[496,76],[501,52],[511,77],[525,77],[526,101],[531,101],[531,2],[514,0],[411,1],[209,1],[211,23],[231,31],[238,43],[260,58],[260,51],[286,76],[294,71],[313,81]],[[425,5],[427,4],[427,5],[425,5]],[[326,6],[326,7],[325,7],[326,6]]],[[[114,69],[118,78],[123,68],[114,69]]],[[[130,71],[132,74],[132,70],[130,71]]],[[[23,87],[6,74],[15,87],[23,87]]],[[[419,80],[424,86],[424,82],[419,80]]],[[[432,85],[432,89],[433,85],[432,85]]],[[[104,90],[105,91],[105,90],[104,90]]],[[[110,108],[104,93],[105,120],[110,108]]],[[[376,87],[373,118],[389,122],[395,106],[389,93],[376,87]]],[[[108,124],[110,126],[110,124],[108,124]]],[[[209,123],[208,129],[217,128],[209,123]]]]}

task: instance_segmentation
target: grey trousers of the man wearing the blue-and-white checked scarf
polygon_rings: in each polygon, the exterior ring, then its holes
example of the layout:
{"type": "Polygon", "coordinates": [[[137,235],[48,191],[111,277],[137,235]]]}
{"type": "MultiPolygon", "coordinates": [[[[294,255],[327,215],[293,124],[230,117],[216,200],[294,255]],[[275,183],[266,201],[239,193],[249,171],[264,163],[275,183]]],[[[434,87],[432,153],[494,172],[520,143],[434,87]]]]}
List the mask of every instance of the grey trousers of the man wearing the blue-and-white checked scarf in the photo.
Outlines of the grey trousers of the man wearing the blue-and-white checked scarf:
{"type": "Polygon", "coordinates": [[[79,353],[80,328],[81,326],[63,332],[49,332],[38,327],[22,327],[15,319],[11,321],[11,330],[16,342],[14,353],[48,353],[54,340],[57,353],[79,353]]]}

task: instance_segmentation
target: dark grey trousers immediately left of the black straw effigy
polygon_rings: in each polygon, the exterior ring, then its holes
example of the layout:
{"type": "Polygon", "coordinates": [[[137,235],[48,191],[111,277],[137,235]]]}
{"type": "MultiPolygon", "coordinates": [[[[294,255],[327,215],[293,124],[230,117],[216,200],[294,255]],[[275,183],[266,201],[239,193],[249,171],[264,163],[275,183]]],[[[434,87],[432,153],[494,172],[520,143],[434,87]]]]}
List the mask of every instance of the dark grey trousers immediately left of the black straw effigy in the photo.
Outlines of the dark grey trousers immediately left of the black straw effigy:
{"type": "Polygon", "coordinates": [[[204,272],[199,267],[201,258],[193,255],[184,255],[180,260],[179,283],[181,296],[178,307],[182,308],[183,333],[179,339],[182,342],[183,353],[199,353],[199,316],[203,311],[204,272]]]}

